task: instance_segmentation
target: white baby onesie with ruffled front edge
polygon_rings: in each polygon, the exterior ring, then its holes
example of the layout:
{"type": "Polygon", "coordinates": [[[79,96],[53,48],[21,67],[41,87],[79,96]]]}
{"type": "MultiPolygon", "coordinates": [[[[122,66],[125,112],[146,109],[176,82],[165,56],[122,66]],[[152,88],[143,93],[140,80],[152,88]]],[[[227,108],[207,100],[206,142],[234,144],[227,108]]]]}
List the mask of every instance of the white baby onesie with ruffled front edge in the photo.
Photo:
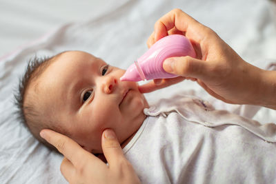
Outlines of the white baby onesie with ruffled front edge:
{"type": "Polygon", "coordinates": [[[124,147],[142,183],[276,183],[276,125],[193,96],[161,99],[124,147]]]}

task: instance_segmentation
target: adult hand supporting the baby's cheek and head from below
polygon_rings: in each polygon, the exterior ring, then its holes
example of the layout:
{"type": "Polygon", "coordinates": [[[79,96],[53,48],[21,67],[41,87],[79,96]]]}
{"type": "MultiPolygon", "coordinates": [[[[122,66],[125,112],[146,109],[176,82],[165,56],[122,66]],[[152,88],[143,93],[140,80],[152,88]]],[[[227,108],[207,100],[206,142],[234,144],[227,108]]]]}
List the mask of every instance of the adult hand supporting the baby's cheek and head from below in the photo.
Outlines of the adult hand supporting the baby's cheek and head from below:
{"type": "Polygon", "coordinates": [[[101,137],[108,165],[63,134],[42,130],[41,137],[63,154],[60,169],[69,183],[140,183],[112,130],[105,130],[101,137]]]}

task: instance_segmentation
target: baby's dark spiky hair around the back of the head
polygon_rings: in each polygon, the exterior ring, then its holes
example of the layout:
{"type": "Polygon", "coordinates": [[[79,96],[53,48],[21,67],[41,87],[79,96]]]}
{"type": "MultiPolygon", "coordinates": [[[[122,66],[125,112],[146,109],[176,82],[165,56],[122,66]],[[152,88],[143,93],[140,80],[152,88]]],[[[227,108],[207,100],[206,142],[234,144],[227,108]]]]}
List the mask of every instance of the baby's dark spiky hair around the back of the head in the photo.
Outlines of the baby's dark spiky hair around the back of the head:
{"type": "Polygon", "coordinates": [[[50,145],[47,141],[39,136],[39,132],[45,128],[55,130],[61,133],[65,133],[61,130],[52,119],[43,118],[41,110],[37,108],[38,103],[35,99],[35,92],[32,95],[28,95],[29,99],[26,101],[26,92],[30,87],[30,83],[34,83],[39,79],[39,76],[48,68],[48,66],[55,61],[63,52],[53,56],[53,57],[37,57],[34,56],[28,61],[27,68],[19,81],[19,86],[17,92],[14,94],[15,105],[17,105],[17,117],[19,121],[23,123],[30,133],[41,143],[50,148],[50,150],[57,149],[50,145]]]}

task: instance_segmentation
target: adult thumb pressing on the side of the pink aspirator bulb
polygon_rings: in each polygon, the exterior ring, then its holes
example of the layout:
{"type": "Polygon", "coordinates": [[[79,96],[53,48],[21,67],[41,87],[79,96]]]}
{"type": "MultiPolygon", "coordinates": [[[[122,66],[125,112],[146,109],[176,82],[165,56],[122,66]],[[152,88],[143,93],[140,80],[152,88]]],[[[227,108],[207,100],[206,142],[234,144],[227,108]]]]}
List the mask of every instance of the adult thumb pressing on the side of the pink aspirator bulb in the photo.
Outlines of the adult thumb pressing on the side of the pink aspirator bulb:
{"type": "Polygon", "coordinates": [[[207,62],[193,57],[170,57],[163,63],[166,72],[177,74],[180,76],[193,77],[197,79],[203,78],[208,74],[207,62]]]}

